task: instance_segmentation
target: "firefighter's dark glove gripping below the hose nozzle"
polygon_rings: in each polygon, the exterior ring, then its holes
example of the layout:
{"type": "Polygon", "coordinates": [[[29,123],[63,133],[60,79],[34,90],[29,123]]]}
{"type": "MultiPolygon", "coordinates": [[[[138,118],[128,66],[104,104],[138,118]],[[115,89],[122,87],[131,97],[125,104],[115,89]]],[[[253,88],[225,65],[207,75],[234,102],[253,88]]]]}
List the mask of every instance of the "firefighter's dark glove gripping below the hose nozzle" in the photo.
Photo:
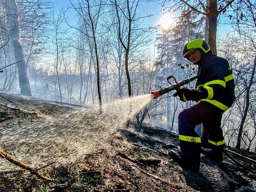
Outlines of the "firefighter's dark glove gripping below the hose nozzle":
{"type": "Polygon", "coordinates": [[[176,93],[173,94],[174,97],[177,97],[179,95],[179,98],[181,101],[198,101],[200,100],[199,94],[195,89],[188,89],[188,88],[182,88],[176,93]]]}

